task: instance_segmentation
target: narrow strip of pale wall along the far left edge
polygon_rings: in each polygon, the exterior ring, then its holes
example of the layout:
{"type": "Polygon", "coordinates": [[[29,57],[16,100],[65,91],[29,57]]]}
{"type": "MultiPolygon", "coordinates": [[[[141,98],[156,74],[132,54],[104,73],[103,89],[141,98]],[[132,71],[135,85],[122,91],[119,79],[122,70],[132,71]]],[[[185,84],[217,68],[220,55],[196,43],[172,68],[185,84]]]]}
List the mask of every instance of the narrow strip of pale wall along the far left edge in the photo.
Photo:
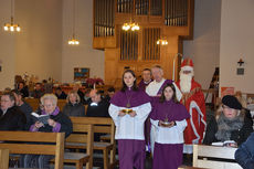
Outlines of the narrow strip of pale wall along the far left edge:
{"type": "Polygon", "coordinates": [[[14,84],[14,39],[15,34],[9,34],[3,32],[2,27],[4,23],[10,22],[11,19],[11,1],[1,0],[0,3],[0,65],[2,71],[0,72],[0,91],[6,87],[13,87],[14,84]]]}

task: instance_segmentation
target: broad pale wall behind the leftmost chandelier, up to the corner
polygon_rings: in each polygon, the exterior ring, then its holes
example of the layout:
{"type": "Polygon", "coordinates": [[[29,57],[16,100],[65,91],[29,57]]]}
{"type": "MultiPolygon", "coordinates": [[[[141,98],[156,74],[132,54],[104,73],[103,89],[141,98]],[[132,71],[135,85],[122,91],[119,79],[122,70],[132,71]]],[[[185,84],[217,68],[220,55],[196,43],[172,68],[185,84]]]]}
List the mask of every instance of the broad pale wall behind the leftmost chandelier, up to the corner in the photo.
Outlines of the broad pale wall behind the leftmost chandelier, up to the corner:
{"type": "Polygon", "coordinates": [[[11,34],[2,30],[10,22],[11,1],[0,1],[0,89],[13,88],[14,75],[25,72],[40,81],[61,81],[62,0],[19,0],[14,4],[14,23],[21,32],[11,34]]]}

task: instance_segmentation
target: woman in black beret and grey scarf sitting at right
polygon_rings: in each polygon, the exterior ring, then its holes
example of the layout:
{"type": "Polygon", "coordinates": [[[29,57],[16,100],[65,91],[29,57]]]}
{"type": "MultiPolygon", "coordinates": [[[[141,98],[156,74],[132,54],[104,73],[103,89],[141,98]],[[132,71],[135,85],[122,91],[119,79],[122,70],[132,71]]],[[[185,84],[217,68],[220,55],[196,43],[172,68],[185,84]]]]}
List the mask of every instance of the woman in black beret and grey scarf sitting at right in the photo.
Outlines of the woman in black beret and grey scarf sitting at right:
{"type": "Polygon", "coordinates": [[[208,124],[203,144],[225,140],[234,140],[232,146],[239,146],[247,139],[253,131],[252,120],[246,117],[242,105],[236,97],[225,95],[222,98],[222,106],[215,118],[208,124]]]}

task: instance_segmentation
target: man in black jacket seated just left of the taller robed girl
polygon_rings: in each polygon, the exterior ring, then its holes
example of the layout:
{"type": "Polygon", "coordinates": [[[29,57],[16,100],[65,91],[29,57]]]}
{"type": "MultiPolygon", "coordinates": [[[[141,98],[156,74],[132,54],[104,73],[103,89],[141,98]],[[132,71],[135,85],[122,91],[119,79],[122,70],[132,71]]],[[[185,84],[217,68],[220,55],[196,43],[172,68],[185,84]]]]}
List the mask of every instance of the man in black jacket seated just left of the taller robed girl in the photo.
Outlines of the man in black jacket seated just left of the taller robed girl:
{"type": "Polygon", "coordinates": [[[109,117],[108,107],[109,103],[102,98],[100,93],[97,89],[89,92],[92,103],[87,107],[88,117],[109,117]]]}

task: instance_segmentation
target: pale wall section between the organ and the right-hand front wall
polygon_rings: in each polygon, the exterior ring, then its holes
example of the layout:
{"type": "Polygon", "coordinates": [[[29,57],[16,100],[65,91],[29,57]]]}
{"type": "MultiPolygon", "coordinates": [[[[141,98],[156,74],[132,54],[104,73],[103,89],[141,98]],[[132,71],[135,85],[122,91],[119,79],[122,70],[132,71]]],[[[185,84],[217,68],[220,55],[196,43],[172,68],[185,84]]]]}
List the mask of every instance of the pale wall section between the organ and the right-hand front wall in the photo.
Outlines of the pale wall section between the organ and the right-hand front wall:
{"type": "Polygon", "coordinates": [[[195,0],[194,36],[183,42],[183,57],[194,62],[194,78],[209,88],[220,61],[221,0],[195,0]]]}

